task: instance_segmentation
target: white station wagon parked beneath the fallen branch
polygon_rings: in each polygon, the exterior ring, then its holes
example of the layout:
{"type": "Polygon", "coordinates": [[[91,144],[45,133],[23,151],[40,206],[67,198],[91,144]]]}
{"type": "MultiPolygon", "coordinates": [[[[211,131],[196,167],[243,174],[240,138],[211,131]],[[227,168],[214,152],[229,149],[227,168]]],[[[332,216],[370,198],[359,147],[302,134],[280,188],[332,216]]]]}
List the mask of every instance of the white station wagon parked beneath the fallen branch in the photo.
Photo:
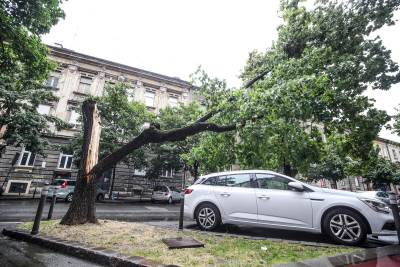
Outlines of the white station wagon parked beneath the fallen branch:
{"type": "Polygon", "coordinates": [[[394,230],[391,210],[379,199],[310,186],[264,170],[200,177],[185,190],[184,212],[202,230],[221,223],[250,224],[324,233],[345,245],[394,230]]]}

